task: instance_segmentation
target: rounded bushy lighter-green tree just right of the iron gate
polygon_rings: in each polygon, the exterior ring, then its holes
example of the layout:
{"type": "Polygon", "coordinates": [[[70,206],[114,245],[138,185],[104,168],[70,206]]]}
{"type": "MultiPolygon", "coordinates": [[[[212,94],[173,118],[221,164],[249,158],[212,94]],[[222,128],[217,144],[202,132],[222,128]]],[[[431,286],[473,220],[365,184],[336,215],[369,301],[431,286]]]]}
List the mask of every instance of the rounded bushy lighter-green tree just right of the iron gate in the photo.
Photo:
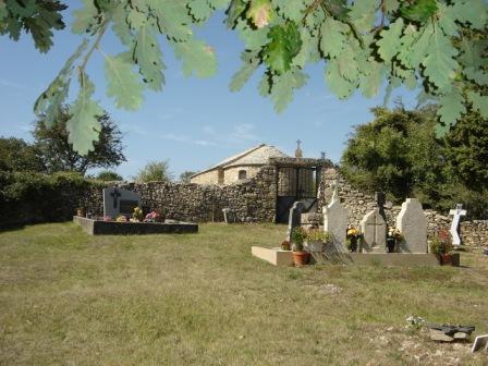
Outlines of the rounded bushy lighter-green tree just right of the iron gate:
{"type": "Polygon", "coordinates": [[[341,170],[347,180],[368,192],[383,191],[394,202],[419,186],[439,186],[435,111],[399,107],[392,111],[375,108],[373,113],[375,120],[355,127],[342,155],[341,170]]]}

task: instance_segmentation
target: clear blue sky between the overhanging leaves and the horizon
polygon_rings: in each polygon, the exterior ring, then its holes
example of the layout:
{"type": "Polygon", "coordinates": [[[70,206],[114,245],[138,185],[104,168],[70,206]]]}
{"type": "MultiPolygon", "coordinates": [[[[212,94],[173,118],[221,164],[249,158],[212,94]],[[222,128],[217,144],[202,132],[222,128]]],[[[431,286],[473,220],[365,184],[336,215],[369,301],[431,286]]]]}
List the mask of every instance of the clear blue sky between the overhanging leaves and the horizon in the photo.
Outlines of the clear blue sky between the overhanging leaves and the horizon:
{"type": "MultiPolygon", "coordinates": [[[[66,1],[65,21],[78,1],[66,1]]],[[[172,50],[161,39],[166,70],[162,93],[147,91],[141,110],[118,110],[105,95],[103,60],[95,53],[88,73],[97,85],[96,98],[109,111],[124,133],[127,162],[115,170],[125,179],[136,174],[148,161],[169,159],[178,175],[185,170],[198,171],[228,156],[260,143],[271,144],[292,155],[300,138],[305,157],[327,157],[339,161],[352,126],[371,120],[369,109],[382,103],[383,93],[374,99],[359,94],[341,101],[324,82],[324,63],[305,70],[308,84],[300,89],[288,109],[277,114],[270,100],[259,96],[260,73],[239,93],[229,91],[229,82],[241,61],[243,44],[236,33],[222,24],[223,14],[216,14],[200,38],[216,49],[219,71],[211,78],[184,77],[172,50]]],[[[56,33],[54,46],[47,54],[39,53],[30,36],[19,42],[0,37],[0,135],[32,141],[35,120],[33,105],[37,96],[54,78],[65,59],[82,37],[69,28],[56,33]]],[[[101,42],[103,52],[115,54],[122,46],[108,34],[101,42]]],[[[407,107],[415,106],[412,94],[399,90],[407,107]]],[[[393,99],[392,99],[393,100],[393,99]]]]}

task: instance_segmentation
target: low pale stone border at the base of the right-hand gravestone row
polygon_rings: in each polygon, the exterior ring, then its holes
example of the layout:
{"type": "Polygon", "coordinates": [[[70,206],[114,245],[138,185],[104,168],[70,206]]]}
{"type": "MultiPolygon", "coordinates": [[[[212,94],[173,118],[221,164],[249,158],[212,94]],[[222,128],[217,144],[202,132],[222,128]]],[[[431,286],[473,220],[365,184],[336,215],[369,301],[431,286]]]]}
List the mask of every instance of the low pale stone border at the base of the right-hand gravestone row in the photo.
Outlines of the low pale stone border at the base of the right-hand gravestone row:
{"type": "MultiPolygon", "coordinates": [[[[291,251],[253,246],[251,253],[273,266],[293,266],[291,251]]],[[[439,259],[431,253],[312,253],[310,264],[341,264],[359,266],[440,266],[439,259]]],[[[452,264],[460,266],[460,254],[452,254],[452,264]]]]}

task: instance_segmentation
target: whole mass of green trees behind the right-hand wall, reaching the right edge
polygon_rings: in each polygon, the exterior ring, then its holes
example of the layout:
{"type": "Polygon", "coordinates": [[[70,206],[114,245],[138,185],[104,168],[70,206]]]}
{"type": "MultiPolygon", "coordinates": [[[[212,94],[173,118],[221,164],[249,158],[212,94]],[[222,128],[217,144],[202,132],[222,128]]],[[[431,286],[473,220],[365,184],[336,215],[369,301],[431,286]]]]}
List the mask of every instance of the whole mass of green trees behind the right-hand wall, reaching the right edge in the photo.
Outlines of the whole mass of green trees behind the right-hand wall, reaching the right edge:
{"type": "Polygon", "coordinates": [[[375,120],[355,129],[341,160],[342,173],[355,187],[383,191],[396,204],[418,197],[444,213],[462,203],[471,217],[486,218],[487,119],[466,110],[438,139],[434,107],[373,111],[375,120]]]}

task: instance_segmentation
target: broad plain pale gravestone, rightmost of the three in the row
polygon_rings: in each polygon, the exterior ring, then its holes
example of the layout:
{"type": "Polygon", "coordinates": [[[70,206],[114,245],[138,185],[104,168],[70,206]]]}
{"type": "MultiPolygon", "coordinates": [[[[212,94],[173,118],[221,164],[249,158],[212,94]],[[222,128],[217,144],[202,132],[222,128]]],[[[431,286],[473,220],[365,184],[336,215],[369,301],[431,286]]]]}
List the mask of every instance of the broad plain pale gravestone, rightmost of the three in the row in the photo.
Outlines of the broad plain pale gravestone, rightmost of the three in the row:
{"type": "Polygon", "coordinates": [[[427,253],[427,219],[417,198],[406,198],[396,218],[403,235],[400,252],[427,253]]]}

